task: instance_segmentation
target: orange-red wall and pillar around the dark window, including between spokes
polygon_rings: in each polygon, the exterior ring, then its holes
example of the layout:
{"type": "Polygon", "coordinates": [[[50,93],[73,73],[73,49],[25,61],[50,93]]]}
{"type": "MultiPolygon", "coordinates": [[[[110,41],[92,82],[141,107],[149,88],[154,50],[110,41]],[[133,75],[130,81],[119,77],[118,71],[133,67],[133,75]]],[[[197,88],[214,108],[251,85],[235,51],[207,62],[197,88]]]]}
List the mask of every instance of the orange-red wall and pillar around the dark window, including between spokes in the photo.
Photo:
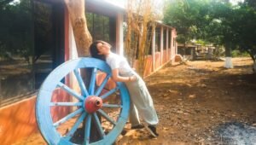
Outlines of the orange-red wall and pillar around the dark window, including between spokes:
{"type": "MultiPolygon", "coordinates": [[[[65,9],[65,23],[68,22],[67,9],[65,9]]],[[[64,28],[65,35],[65,60],[69,59],[69,41],[68,40],[68,25],[64,28]]],[[[67,78],[66,83],[69,84],[67,78]]],[[[15,102],[5,107],[0,107],[0,144],[10,145],[18,142],[22,138],[31,136],[38,132],[38,124],[36,121],[35,105],[36,96],[27,96],[20,102],[15,102]]],[[[60,90],[55,90],[52,102],[69,100],[67,94],[60,90]],[[58,99],[57,99],[58,96],[58,99]],[[62,96],[62,97],[60,97],[62,96]],[[60,99],[59,99],[60,98],[60,99]]],[[[69,110],[63,107],[53,107],[51,109],[53,120],[60,119],[65,116],[69,110]]]]}

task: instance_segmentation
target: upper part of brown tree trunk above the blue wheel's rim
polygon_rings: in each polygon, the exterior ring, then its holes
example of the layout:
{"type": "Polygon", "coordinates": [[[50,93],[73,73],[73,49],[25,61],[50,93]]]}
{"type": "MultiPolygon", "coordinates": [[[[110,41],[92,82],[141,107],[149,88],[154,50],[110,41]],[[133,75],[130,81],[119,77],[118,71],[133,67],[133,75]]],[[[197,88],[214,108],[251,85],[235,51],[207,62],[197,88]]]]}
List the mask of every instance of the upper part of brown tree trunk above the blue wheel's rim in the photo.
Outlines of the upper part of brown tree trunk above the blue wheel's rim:
{"type": "Polygon", "coordinates": [[[65,0],[65,3],[72,23],[78,55],[79,57],[89,55],[89,47],[92,42],[92,38],[88,31],[85,19],[84,0],[65,0]]]}

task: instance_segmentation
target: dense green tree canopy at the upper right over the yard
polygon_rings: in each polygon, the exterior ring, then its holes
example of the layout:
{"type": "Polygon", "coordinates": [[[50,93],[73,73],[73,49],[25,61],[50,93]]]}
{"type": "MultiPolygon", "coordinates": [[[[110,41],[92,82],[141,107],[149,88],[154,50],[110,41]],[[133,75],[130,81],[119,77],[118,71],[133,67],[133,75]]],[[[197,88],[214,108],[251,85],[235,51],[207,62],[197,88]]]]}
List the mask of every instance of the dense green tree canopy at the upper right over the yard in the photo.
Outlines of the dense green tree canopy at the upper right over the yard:
{"type": "MultiPolygon", "coordinates": [[[[256,2],[176,0],[166,4],[164,22],[177,29],[177,42],[201,39],[226,49],[247,51],[256,58],[256,2]]],[[[227,54],[226,54],[227,55],[227,54]]]]}

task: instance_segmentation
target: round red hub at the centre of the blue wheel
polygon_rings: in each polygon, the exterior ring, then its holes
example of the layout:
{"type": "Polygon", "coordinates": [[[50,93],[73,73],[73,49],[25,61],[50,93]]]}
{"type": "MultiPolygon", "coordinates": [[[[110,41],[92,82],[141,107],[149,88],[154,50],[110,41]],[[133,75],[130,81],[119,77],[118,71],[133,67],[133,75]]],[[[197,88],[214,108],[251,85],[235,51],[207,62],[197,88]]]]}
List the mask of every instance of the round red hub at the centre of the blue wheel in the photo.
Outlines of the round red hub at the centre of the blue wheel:
{"type": "Polygon", "coordinates": [[[84,107],[87,113],[95,113],[102,107],[102,98],[98,96],[88,96],[84,102],[84,107]]]}

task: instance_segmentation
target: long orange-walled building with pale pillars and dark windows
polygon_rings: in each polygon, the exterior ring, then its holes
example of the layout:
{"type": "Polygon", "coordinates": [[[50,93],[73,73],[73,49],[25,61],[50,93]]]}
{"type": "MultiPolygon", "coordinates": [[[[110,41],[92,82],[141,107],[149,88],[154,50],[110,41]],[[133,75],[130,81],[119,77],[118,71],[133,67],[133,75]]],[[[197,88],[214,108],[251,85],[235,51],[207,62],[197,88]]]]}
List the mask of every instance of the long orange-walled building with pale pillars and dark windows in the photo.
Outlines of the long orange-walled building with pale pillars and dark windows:
{"type": "MultiPolygon", "coordinates": [[[[110,42],[122,54],[125,10],[107,0],[85,3],[93,39],[110,42]]],[[[0,142],[12,144],[38,131],[37,90],[55,67],[76,58],[77,52],[61,0],[6,1],[0,9],[0,142]]],[[[145,76],[173,61],[177,54],[174,28],[158,22],[154,33],[145,76]]],[[[65,83],[71,84],[72,78],[65,83]]]]}

